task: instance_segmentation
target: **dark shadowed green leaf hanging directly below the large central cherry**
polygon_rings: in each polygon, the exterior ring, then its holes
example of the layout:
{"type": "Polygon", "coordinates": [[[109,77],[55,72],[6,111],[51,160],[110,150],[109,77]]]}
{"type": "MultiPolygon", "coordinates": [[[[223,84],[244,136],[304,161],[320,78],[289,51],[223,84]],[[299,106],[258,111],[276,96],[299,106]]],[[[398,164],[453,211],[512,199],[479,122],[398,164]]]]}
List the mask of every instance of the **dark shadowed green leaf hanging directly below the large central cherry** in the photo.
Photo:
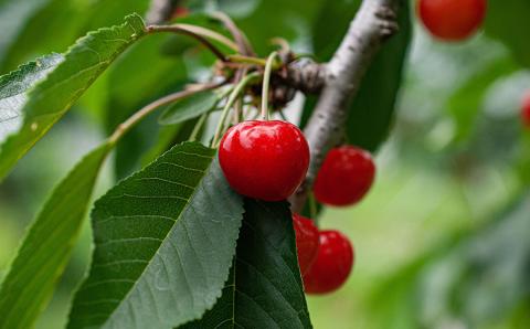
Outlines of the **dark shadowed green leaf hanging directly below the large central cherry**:
{"type": "Polygon", "coordinates": [[[223,296],[183,328],[311,328],[287,203],[245,200],[237,253],[223,296]]]}

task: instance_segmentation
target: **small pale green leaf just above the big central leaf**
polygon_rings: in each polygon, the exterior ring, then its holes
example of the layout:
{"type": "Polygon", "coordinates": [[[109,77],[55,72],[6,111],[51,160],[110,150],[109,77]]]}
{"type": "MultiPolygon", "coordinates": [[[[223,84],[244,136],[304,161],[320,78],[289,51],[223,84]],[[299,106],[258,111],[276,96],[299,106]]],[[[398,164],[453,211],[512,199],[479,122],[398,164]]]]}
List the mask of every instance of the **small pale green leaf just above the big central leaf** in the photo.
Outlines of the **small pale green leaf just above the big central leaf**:
{"type": "Polygon", "coordinates": [[[174,125],[212,110],[219,102],[219,96],[213,91],[204,91],[186,97],[166,109],[158,123],[160,125],[174,125]]]}

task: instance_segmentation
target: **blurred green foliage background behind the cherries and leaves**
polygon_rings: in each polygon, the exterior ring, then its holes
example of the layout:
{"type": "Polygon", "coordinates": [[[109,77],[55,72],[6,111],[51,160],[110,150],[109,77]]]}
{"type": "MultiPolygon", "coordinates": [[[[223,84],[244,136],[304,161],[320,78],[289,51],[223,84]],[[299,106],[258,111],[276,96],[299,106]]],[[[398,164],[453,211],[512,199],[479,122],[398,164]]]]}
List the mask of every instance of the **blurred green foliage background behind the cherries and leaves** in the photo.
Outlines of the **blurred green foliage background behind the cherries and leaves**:
{"type": "MultiPolygon", "coordinates": [[[[0,0],[0,72],[63,52],[87,31],[145,13],[148,4],[0,0]]],[[[333,50],[358,4],[187,3],[192,12],[226,11],[261,55],[278,35],[297,52],[333,50]]],[[[484,31],[446,44],[426,34],[411,2],[413,36],[391,137],[377,152],[375,184],[360,204],[326,209],[320,217],[322,227],[350,236],[357,259],[343,288],[309,297],[316,328],[530,328],[530,137],[519,118],[520,100],[530,91],[530,3],[489,4],[484,31]]],[[[47,193],[85,152],[140,105],[209,73],[211,57],[182,44],[153,36],[135,45],[0,184],[0,277],[47,193]]],[[[382,81],[395,74],[381,72],[382,81]]],[[[379,92],[370,91],[367,107],[379,92]]],[[[290,108],[289,115],[299,112],[290,108]]],[[[120,164],[114,159],[106,164],[96,198],[146,163],[167,144],[165,134],[156,118],[135,129],[114,157],[120,164]]],[[[71,294],[89,263],[88,222],[85,226],[38,328],[65,323],[71,294]]]]}

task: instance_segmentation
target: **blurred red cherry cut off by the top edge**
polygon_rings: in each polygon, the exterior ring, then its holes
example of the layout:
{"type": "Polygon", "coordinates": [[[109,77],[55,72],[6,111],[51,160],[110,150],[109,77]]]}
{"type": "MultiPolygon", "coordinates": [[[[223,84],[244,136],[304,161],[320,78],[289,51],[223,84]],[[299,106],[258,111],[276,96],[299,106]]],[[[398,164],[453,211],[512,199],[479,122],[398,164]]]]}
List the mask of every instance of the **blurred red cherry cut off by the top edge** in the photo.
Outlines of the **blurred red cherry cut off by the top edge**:
{"type": "Polygon", "coordinates": [[[487,0],[420,0],[420,18],[436,38],[460,41],[481,25],[487,0]]]}

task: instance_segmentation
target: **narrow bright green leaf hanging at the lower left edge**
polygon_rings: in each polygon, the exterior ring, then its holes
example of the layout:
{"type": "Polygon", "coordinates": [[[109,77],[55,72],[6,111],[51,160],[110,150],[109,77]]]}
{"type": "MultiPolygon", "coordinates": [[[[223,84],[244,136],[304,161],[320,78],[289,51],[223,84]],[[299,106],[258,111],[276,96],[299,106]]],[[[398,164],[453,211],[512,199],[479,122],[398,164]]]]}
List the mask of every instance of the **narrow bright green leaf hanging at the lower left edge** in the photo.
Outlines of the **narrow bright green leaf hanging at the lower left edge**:
{"type": "Polygon", "coordinates": [[[67,264],[91,200],[105,144],[55,188],[30,226],[0,286],[0,328],[31,328],[67,264]]]}

